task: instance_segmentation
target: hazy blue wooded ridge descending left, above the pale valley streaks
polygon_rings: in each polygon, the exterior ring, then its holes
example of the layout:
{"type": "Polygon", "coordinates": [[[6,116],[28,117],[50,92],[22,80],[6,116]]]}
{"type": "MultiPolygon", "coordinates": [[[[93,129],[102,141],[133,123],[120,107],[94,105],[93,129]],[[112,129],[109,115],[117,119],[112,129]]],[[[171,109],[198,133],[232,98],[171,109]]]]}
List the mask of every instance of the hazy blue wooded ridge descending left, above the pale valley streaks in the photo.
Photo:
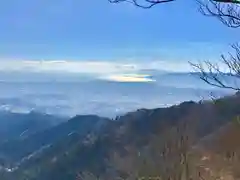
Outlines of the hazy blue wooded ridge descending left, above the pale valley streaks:
{"type": "Polygon", "coordinates": [[[0,144],[0,155],[10,164],[15,164],[42,147],[64,140],[67,136],[72,134],[82,136],[88,134],[93,129],[98,130],[105,123],[105,120],[108,119],[94,115],[76,116],[53,128],[0,144]]]}

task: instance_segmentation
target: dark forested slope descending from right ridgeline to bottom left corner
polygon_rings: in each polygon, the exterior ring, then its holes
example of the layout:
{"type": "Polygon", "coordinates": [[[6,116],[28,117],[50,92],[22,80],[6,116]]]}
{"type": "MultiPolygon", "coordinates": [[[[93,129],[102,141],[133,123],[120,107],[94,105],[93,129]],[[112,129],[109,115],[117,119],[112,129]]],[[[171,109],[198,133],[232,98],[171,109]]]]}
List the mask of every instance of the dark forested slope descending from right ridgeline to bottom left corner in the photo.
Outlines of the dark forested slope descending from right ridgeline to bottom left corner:
{"type": "Polygon", "coordinates": [[[61,136],[51,148],[22,163],[8,178],[75,180],[79,172],[85,171],[103,179],[134,173],[157,175],[172,166],[182,152],[182,147],[173,148],[175,142],[187,137],[186,147],[198,143],[240,115],[239,107],[240,96],[236,95],[214,103],[185,102],[127,113],[116,121],[107,121],[100,131],[61,136]],[[163,156],[166,148],[170,154],[163,156]]]}

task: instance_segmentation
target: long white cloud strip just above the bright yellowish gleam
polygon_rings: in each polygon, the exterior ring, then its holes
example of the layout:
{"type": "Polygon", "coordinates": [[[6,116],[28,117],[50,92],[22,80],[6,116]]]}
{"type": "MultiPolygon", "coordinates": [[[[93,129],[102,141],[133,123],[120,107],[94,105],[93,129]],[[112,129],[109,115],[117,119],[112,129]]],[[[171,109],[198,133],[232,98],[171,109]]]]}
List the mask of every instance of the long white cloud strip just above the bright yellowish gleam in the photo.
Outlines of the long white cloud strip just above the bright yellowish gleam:
{"type": "Polygon", "coordinates": [[[0,60],[0,71],[125,74],[142,69],[188,71],[188,63],[164,61],[72,61],[72,60],[0,60]]]}

